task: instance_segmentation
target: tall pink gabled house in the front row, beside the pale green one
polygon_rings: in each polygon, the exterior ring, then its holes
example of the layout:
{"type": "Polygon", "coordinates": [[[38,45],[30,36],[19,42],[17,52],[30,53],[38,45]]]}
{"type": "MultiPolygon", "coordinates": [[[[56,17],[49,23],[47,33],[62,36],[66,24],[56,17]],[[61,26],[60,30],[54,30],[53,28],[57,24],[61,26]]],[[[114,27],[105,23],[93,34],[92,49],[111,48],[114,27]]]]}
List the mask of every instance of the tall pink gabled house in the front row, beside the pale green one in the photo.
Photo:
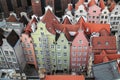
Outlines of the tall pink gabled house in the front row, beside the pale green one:
{"type": "Polygon", "coordinates": [[[88,63],[89,42],[82,30],[78,31],[71,45],[70,68],[72,71],[84,69],[88,63]]]}

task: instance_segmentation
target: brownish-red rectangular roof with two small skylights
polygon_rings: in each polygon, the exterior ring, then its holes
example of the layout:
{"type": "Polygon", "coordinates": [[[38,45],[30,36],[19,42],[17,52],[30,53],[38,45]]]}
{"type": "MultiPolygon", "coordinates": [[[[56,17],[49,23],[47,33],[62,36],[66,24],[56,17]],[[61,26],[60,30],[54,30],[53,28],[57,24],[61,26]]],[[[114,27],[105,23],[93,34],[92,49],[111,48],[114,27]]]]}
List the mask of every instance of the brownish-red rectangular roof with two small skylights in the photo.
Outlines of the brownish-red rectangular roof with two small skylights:
{"type": "Polygon", "coordinates": [[[115,36],[100,36],[92,38],[93,50],[116,50],[115,36]]]}

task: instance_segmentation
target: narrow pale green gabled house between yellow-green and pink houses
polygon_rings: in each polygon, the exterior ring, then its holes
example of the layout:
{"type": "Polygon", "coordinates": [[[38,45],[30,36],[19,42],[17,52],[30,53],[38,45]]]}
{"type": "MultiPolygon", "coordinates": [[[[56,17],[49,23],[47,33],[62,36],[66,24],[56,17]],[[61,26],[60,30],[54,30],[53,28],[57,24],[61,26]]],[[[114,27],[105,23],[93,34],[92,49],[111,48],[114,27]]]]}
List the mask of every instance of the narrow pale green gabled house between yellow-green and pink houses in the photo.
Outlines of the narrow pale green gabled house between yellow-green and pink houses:
{"type": "MultiPolygon", "coordinates": [[[[56,35],[57,37],[57,35],[56,35]]],[[[63,30],[56,39],[56,70],[69,72],[70,69],[70,44],[66,32],[63,30]]]]}

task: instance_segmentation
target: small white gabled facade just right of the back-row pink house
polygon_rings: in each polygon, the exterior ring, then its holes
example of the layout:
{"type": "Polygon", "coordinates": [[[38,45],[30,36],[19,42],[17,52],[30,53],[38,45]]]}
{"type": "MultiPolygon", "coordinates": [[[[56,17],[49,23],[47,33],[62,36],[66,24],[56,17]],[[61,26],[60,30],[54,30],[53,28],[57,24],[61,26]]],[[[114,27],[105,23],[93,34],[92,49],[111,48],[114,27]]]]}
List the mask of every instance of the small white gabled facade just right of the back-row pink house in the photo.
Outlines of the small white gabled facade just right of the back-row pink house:
{"type": "Polygon", "coordinates": [[[101,24],[110,24],[110,13],[107,7],[105,7],[100,14],[101,24]]]}

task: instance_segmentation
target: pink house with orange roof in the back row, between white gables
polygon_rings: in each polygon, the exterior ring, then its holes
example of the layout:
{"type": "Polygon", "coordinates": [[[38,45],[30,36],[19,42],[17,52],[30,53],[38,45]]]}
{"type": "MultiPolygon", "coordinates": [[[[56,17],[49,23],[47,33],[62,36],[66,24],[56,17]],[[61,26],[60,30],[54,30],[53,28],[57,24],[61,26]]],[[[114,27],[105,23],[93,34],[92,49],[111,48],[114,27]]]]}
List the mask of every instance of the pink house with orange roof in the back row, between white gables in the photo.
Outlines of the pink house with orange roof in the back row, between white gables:
{"type": "Polygon", "coordinates": [[[88,22],[100,23],[99,16],[101,14],[101,8],[96,5],[94,0],[91,0],[88,4],[88,22]]]}

